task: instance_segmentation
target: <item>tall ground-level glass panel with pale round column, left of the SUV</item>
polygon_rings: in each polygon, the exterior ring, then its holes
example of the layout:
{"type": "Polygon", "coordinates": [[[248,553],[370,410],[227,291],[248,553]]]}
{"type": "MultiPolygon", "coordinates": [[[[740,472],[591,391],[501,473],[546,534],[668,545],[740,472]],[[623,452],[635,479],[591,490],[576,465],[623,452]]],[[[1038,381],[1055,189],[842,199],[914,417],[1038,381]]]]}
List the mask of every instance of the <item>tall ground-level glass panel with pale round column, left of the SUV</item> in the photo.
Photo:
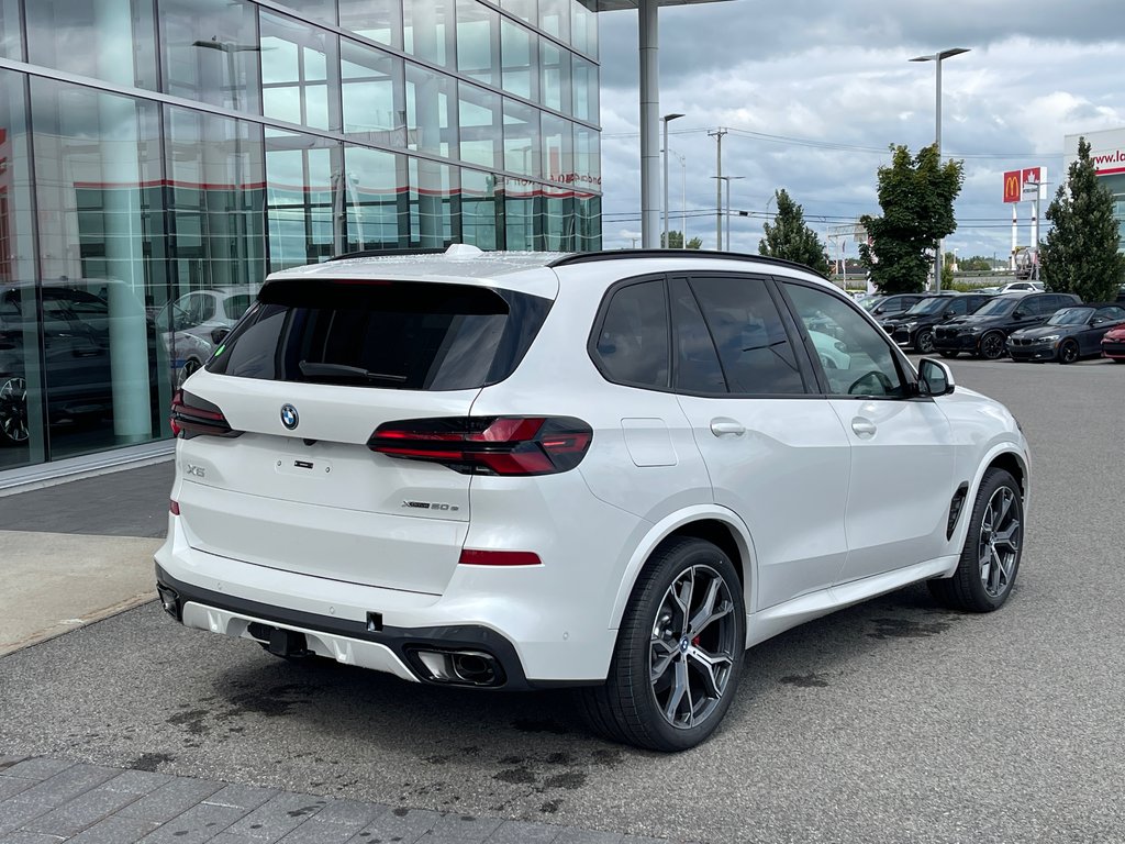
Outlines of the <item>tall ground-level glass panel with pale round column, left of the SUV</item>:
{"type": "Polygon", "coordinates": [[[32,119],[51,455],[165,436],[160,108],[36,78],[32,119]]]}

